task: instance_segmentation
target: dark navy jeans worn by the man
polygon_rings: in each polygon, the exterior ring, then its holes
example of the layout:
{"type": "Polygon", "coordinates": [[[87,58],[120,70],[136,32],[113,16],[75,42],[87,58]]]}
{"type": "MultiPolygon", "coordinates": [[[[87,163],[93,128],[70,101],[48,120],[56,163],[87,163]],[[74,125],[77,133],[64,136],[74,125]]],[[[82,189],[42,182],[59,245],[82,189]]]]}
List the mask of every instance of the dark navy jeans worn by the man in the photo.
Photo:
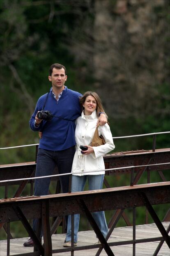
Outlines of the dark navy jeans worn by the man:
{"type": "MultiPolygon", "coordinates": [[[[58,167],[58,173],[64,174],[71,172],[73,158],[75,154],[75,146],[66,150],[52,151],[39,148],[37,154],[37,166],[35,177],[53,175],[55,166],[58,167]]],[[[63,193],[69,191],[69,175],[59,177],[63,193]]],[[[50,178],[35,179],[34,195],[48,195],[50,186],[50,178]]],[[[33,220],[32,228],[34,232],[37,228],[37,219],[33,220]]],[[[42,233],[41,233],[42,236],[42,233]]]]}

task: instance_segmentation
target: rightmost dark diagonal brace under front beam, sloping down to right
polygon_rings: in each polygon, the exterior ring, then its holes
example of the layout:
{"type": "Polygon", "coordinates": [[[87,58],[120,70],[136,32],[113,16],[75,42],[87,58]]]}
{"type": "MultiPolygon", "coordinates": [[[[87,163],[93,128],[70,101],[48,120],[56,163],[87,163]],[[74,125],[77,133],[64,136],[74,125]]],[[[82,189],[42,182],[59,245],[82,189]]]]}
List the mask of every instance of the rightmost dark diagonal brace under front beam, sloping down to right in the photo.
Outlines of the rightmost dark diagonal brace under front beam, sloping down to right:
{"type": "Polygon", "coordinates": [[[170,248],[170,237],[168,236],[168,233],[166,232],[165,228],[163,227],[159,217],[157,216],[156,212],[154,211],[152,205],[150,204],[146,194],[144,192],[140,192],[140,195],[145,203],[145,206],[147,210],[149,211],[149,214],[152,216],[156,226],[158,227],[161,235],[163,236],[163,239],[166,241],[168,247],[170,248]]]}

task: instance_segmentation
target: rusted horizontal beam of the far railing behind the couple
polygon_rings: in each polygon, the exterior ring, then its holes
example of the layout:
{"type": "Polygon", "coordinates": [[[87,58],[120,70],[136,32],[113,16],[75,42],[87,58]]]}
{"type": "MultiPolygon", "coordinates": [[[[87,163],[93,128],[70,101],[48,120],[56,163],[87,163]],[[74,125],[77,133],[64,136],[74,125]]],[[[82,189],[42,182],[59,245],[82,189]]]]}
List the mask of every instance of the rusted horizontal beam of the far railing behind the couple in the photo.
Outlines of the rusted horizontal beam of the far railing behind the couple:
{"type": "MultiPolygon", "coordinates": [[[[149,159],[152,158],[150,164],[157,164],[157,163],[169,162],[170,148],[156,149],[155,152],[152,152],[152,150],[136,150],[136,151],[119,152],[119,153],[105,155],[103,158],[104,158],[106,169],[147,164],[148,158],[149,159]]],[[[35,162],[18,163],[18,164],[2,164],[0,165],[0,181],[6,180],[6,179],[9,179],[9,180],[13,179],[14,174],[16,179],[24,178],[28,170],[33,169],[33,171],[35,171],[35,168],[36,168],[35,162]]],[[[170,169],[170,166],[168,164],[148,167],[148,170],[150,171],[161,171],[161,170],[167,170],[167,169],[170,169]]],[[[106,171],[106,175],[126,174],[130,172],[131,172],[131,169],[117,169],[117,170],[106,171]]],[[[57,174],[57,169],[53,171],[53,174],[57,174]]],[[[56,180],[56,177],[54,177],[53,179],[56,180]]],[[[13,182],[12,185],[15,185],[16,183],[13,182]]],[[[2,183],[2,184],[0,183],[0,186],[5,186],[5,183],[2,183]]]]}

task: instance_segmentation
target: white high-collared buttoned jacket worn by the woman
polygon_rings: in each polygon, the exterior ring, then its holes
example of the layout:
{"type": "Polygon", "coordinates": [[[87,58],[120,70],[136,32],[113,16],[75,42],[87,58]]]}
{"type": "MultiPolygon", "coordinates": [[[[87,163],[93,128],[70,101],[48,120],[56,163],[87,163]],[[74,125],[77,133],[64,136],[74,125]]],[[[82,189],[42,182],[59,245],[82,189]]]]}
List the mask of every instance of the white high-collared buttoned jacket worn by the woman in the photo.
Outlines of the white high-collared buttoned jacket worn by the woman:
{"type": "Polygon", "coordinates": [[[74,160],[72,164],[71,172],[74,175],[99,175],[105,174],[105,171],[96,171],[84,173],[84,171],[93,171],[93,170],[103,170],[105,169],[103,155],[110,152],[115,148],[113,143],[112,134],[110,132],[110,127],[108,124],[99,126],[99,136],[102,134],[103,138],[106,141],[106,144],[93,147],[94,153],[89,155],[83,155],[79,148],[80,145],[90,145],[96,129],[97,123],[96,110],[91,115],[84,115],[82,112],[81,116],[76,119],[76,130],[75,130],[75,139],[76,139],[76,153],[74,155],[74,160]],[[77,172],[81,172],[78,174],[77,172]]]}

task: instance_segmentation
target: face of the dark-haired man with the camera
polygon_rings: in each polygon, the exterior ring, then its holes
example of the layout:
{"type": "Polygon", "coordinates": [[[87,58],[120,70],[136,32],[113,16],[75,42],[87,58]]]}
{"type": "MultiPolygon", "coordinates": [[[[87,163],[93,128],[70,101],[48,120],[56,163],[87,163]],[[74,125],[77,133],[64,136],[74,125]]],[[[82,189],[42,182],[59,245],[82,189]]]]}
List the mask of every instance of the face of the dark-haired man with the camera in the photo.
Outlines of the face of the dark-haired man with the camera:
{"type": "Polygon", "coordinates": [[[67,75],[65,75],[64,68],[56,69],[53,68],[53,73],[48,76],[50,82],[52,82],[52,86],[56,89],[64,89],[64,83],[67,80],[67,75]]]}

